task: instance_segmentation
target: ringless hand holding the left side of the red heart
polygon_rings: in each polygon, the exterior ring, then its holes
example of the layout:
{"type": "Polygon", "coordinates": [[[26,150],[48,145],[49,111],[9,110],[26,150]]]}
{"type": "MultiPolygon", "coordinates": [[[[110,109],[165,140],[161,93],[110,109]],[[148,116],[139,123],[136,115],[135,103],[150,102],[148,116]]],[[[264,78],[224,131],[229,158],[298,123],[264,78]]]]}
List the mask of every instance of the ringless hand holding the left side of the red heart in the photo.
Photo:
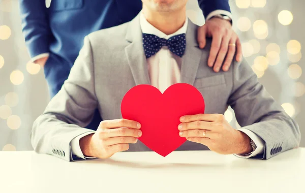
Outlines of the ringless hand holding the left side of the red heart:
{"type": "Polygon", "coordinates": [[[79,140],[84,156],[109,158],[114,153],[129,149],[129,143],[137,143],[142,132],[141,124],[127,119],[102,121],[95,134],[79,140]]]}

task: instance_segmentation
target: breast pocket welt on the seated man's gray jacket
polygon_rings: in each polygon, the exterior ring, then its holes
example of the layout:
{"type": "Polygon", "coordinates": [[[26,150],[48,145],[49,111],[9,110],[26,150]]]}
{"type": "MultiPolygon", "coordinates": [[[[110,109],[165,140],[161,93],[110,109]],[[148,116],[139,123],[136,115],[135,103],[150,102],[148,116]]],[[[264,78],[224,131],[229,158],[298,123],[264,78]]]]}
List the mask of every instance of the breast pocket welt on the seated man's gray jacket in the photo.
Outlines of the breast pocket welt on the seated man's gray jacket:
{"type": "Polygon", "coordinates": [[[198,78],[194,82],[194,86],[196,88],[218,86],[218,85],[222,85],[222,84],[226,84],[225,76],[223,74],[216,75],[216,76],[210,76],[210,77],[204,77],[204,78],[198,78]]]}

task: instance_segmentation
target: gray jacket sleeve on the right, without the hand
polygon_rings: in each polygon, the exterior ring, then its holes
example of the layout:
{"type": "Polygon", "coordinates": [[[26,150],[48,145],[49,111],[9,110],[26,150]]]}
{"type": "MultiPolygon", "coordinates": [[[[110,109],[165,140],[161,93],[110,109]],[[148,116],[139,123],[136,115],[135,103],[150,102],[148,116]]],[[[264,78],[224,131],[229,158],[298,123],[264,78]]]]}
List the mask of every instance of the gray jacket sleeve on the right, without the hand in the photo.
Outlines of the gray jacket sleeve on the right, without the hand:
{"type": "Polygon", "coordinates": [[[233,62],[232,68],[233,87],[228,105],[234,110],[240,126],[252,131],[265,142],[263,155],[254,158],[269,159],[280,152],[298,147],[298,124],[258,82],[245,59],[233,62]]]}

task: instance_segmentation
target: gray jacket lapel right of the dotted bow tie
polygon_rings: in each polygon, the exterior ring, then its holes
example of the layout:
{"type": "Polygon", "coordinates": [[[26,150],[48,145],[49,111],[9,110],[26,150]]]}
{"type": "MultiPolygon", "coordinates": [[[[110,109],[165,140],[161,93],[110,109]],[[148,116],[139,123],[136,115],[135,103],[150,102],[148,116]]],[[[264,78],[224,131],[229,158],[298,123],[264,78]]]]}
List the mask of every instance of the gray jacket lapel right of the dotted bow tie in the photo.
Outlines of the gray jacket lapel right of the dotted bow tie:
{"type": "Polygon", "coordinates": [[[181,65],[181,83],[188,83],[193,85],[197,69],[201,60],[202,50],[197,42],[197,28],[198,26],[189,20],[188,30],[186,34],[187,47],[186,52],[182,58],[181,65]]]}

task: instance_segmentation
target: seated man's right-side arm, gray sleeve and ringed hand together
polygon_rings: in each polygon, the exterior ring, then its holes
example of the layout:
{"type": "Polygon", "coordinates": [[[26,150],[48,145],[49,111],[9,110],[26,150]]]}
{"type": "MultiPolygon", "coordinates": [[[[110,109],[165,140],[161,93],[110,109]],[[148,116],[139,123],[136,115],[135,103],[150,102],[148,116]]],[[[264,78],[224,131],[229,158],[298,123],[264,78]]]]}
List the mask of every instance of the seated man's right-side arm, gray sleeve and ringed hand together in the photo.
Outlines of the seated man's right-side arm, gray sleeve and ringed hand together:
{"type": "Polygon", "coordinates": [[[232,87],[228,99],[242,128],[235,130],[223,114],[186,115],[180,118],[179,135],[206,145],[221,154],[269,159],[282,151],[298,147],[297,123],[258,82],[247,62],[234,62],[227,83],[232,87]],[[259,146],[254,152],[251,139],[259,146]]]}

